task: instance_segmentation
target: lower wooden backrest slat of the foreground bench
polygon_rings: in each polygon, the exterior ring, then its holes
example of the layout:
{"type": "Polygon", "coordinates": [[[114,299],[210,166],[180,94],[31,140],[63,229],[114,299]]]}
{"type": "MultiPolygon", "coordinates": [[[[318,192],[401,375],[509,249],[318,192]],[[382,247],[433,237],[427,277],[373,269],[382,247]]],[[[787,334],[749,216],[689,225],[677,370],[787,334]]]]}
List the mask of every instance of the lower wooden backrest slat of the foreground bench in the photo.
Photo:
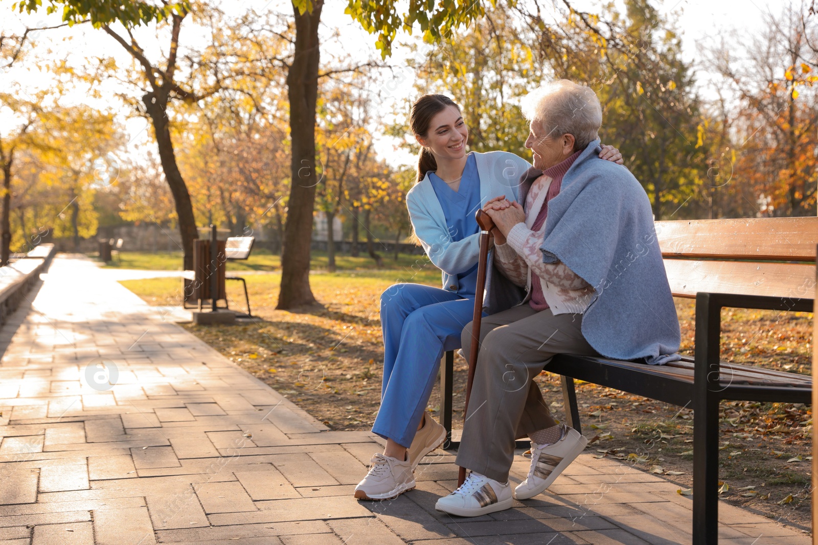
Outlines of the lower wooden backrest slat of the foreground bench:
{"type": "Polygon", "coordinates": [[[811,298],[815,290],[812,264],[665,259],[664,265],[676,297],[708,292],[811,298]]]}

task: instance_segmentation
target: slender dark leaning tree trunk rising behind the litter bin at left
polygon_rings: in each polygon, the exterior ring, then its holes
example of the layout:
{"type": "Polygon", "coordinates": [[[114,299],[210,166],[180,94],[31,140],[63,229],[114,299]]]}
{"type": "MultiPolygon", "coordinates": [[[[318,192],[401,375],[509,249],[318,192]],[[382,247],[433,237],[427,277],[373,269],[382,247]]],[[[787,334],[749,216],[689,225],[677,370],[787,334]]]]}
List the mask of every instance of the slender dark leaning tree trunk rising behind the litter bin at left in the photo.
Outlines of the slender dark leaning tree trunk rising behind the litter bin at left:
{"type": "Polygon", "coordinates": [[[179,222],[179,235],[182,235],[182,251],[184,269],[193,269],[193,241],[199,238],[196,229],[196,217],[193,216],[191,194],[187,192],[187,185],[179,172],[176,163],[176,154],[173,152],[173,141],[170,139],[168,116],[165,110],[168,106],[168,92],[149,92],[142,96],[147,114],[151,116],[156,145],[159,147],[159,157],[162,163],[164,179],[168,181],[170,192],[173,194],[173,203],[176,205],[176,216],[179,222]]]}

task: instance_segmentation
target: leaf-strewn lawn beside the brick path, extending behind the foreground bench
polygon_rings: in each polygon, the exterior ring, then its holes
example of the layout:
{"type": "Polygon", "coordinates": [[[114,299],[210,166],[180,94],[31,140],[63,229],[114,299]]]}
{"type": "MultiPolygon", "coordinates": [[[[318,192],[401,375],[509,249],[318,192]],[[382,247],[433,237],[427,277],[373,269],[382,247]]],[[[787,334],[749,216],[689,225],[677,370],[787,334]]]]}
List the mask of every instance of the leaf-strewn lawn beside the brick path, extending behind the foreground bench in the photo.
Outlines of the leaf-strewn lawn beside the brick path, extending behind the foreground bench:
{"type": "MultiPolygon", "coordinates": [[[[439,286],[438,270],[419,262],[414,268],[410,264],[391,270],[317,271],[310,281],[321,305],[294,312],[275,310],[280,274],[247,275],[246,279],[250,304],[261,321],[183,327],[331,429],[370,429],[380,402],[384,357],[380,293],[399,281],[439,286]]],[[[178,279],[122,284],[151,304],[178,304],[178,279]]],[[[240,285],[230,284],[231,307],[242,308],[240,285]]],[[[691,354],[694,302],[677,299],[676,310],[681,352],[691,354]]],[[[725,309],[721,355],[736,363],[811,373],[811,328],[808,313],[725,309]]],[[[466,369],[465,361],[457,357],[456,408],[464,401],[466,369]]],[[[535,380],[560,418],[564,407],[559,377],[542,373],[535,380]]],[[[690,409],[680,411],[593,384],[579,384],[577,390],[583,430],[591,439],[589,452],[661,474],[680,489],[690,488],[690,409]]],[[[437,414],[439,404],[435,385],[429,409],[437,414]]],[[[461,418],[462,413],[455,413],[456,422],[461,418]]],[[[721,498],[809,529],[811,409],[797,404],[722,402],[720,418],[720,477],[728,485],[721,498]]]]}

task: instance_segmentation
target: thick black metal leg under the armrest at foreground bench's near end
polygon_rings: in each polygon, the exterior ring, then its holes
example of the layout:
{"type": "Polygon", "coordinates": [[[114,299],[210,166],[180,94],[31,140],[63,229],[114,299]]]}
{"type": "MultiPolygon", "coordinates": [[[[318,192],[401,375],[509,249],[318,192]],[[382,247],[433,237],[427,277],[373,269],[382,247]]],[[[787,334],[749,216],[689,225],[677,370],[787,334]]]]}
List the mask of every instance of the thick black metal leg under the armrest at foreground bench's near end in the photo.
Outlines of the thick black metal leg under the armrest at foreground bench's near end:
{"type": "Polygon", "coordinates": [[[693,543],[718,543],[718,404],[721,306],[696,297],[693,393],[693,543]]]}

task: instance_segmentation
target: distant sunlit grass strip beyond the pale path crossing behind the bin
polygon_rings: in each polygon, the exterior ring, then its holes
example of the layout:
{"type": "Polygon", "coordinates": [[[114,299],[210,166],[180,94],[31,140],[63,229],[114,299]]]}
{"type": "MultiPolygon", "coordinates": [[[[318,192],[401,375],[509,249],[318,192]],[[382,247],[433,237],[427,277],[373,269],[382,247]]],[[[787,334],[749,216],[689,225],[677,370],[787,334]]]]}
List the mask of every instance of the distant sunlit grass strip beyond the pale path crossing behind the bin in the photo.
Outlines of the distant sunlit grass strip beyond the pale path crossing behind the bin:
{"type": "MultiPolygon", "coordinates": [[[[394,261],[393,254],[386,255],[379,252],[384,258],[381,270],[404,270],[414,266],[416,269],[429,263],[425,255],[398,254],[398,261],[394,261]]],[[[89,257],[97,258],[98,253],[89,253],[89,257]]],[[[326,270],[326,252],[312,251],[310,268],[312,270],[326,270]]],[[[346,254],[335,254],[337,270],[373,269],[377,270],[375,261],[366,252],[360,257],[351,257],[346,254]]],[[[182,270],[182,252],[120,252],[119,259],[104,265],[109,269],[142,269],[142,270],[182,270]]],[[[227,261],[227,270],[281,270],[281,256],[271,253],[264,248],[254,248],[246,261],[227,261]]]]}

